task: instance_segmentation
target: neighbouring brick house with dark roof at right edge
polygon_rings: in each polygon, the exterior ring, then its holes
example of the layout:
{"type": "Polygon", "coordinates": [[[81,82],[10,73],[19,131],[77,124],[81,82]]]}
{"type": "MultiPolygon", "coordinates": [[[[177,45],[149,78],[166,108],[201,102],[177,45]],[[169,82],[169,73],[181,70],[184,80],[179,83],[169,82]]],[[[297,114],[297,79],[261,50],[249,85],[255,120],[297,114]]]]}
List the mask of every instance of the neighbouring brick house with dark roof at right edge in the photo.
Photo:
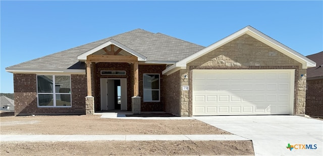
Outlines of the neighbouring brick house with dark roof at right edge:
{"type": "Polygon", "coordinates": [[[323,118],[323,51],[306,57],[315,61],[316,66],[307,69],[305,113],[323,118]]]}

